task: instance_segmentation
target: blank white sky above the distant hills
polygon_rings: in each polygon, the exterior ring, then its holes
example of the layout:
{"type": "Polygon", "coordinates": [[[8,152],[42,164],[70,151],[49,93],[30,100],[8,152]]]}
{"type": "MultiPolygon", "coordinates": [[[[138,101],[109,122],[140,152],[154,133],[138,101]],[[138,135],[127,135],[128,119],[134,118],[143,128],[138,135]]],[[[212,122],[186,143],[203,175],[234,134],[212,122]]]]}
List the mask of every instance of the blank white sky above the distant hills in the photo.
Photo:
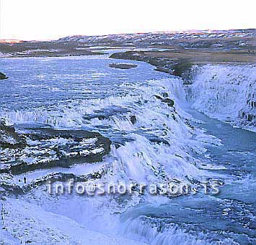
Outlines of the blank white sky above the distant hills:
{"type": "Polygon", "coordinates": [[[0,0],[0,39],[256,29],[255,0],[0,0]]]}

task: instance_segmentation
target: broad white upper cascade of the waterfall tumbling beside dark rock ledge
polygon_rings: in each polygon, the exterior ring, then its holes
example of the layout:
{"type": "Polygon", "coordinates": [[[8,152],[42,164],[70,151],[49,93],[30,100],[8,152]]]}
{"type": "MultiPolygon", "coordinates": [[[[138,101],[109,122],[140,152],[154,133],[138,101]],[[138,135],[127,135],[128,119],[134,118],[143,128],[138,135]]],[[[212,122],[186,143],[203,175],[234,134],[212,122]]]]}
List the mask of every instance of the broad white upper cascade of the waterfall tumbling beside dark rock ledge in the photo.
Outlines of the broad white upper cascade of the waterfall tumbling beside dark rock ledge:
{"type": "MultiPolygon", "coordinates": [[[[126,142],[125,146],[118,149],[112,148],[110,155],[122,162],[117,165],[123,166],[123,170],[117,170],[116,174],[123,171],[128,179],[156,181],[160,169],[168,178],[175,177],[180,180],[184,180],[185,176],[202,178],[203,175],[207,175],[206,172],[198,169],[201,167],[200,162],[190,155],[192,149],[203,153],[205,148],[201,142],[191,137],[193,134],[198,134],[198,139],[200,135],[206,142],[211,142],[212,139],[201,134],[200,131],[193,131],[185,124],[191,116],[182,109],[186,106],[182,80],[169,78],[151,80],[143,86],[127,86],[128,89],[136,91],[136,95],[111,96],[105,99],[79,101],[79,103],[75,101],[69,103],[69,106],[58,106],[58,111],[45,111],[43,108],[6,111],[1,117],[15,123],[35,121],[64,128],[87,126],[93,130],[97,130],[97,126],[107,126],[113,131],[118,131],[119,134],[125,132],[126,137],[132,142],[126,142]],[[175,108],[154,97],[163,93],[167,93],[175,101],[175,108]],[[103,120],[84,119],[84,115],[93,115],[94,111],[104,111],[111,106],[128,108],[129,112],[120,111],[120,114],[103,120]],[[136,116],[135,125],[130,121],[131,115],[136,116]],[[162,143],[152,143],[152,137],[162,143]]],[[[105,134],[105,131],[102,131],[102,134],[105,134]]]]}

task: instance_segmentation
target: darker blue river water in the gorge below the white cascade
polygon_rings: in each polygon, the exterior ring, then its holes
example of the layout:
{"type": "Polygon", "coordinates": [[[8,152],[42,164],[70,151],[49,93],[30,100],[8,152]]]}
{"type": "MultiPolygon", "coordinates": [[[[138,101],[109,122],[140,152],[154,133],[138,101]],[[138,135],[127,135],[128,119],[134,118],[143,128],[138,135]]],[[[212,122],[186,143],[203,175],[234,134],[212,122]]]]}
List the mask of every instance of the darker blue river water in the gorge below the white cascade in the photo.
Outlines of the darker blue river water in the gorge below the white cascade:
{"type": "Polygon", "coordinates": [[[123,215],[124,233],[152,244],[255,244],[255,133],[196,111],[190,113],[204,121],[199,125],[207,133],[222,140],[222,146],[208,147],[206,153],[209,161],[225,167],[214,171],[224,175],[226,183],[219,195],[199,194],[161,205],[138,205],[123,215]]]}

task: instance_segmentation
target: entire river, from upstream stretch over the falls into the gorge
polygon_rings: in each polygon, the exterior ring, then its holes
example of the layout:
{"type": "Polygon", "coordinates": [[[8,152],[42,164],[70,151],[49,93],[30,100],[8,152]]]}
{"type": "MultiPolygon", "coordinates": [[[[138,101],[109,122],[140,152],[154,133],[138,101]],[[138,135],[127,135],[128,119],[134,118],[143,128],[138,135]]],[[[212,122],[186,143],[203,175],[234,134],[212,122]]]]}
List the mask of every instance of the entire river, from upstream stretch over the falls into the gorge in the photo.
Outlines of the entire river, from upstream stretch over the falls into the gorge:
{"type": "Polygon", "coordinates": [[[105,181],[219,178],[224,182],[221,192],[83,199],[88,205],[76,197],[54,200],[56,208],[40,205],[88,228],[146,244],[256,244],[255,133],[191,110],[180,79],[146,63],[125,60],[138,65],[131,70],[107,66],[115,62],[122,60],[105,55],[1,59],[9,80],[1,80],[0,116],[19,127],[36,122],[109,137],[113,145],[105,162],[112,171],[105,181]],[[175,111],[154,96],[164,93],[175,100],[175,111]],[[191,115],[204,124],[193,120],[192,130],[185,123],[191,115]],[[71,211],[72,206],[80,213],[71,211]]]}

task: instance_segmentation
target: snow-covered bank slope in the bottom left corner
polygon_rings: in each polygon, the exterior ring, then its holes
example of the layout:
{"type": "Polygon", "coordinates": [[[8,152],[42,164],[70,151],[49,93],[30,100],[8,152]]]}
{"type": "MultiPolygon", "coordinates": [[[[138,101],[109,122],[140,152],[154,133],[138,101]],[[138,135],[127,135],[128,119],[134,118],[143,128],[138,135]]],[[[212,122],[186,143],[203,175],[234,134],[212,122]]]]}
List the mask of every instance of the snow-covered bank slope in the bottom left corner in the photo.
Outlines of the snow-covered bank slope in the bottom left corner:
{"type": "Polygon", "coordinates": [[[4,201],[4,225],[14,238],[7,241],[17,241],[19,244],[32,242],[33,244],[144,244],[129,241],[121,237],[107,236],[96,231],[89,231],[71,218],[43,210],[38,205],[25,200],[6,198],[4,201]]]}

